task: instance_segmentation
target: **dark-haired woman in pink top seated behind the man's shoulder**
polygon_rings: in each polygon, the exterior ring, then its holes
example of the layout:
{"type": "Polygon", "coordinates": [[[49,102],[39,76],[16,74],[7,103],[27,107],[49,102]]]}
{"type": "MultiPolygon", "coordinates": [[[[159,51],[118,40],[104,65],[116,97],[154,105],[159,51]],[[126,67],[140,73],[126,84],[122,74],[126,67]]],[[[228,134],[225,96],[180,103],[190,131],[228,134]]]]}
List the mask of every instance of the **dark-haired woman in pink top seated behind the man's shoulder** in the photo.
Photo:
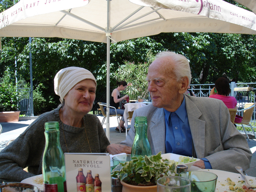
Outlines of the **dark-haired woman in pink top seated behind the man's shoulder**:
{"type": "Polygon", "coordinates": [[[229,81],[226,78],[221,77],[215,81],[215,87],[212,88],[209,97],[223,101],[227,108],[237,109],[236,98],[228,96],[230,92],[231,89],[229,81]],[[217,90],[217,93],[214,92],[215,89],[217,90]]]}

